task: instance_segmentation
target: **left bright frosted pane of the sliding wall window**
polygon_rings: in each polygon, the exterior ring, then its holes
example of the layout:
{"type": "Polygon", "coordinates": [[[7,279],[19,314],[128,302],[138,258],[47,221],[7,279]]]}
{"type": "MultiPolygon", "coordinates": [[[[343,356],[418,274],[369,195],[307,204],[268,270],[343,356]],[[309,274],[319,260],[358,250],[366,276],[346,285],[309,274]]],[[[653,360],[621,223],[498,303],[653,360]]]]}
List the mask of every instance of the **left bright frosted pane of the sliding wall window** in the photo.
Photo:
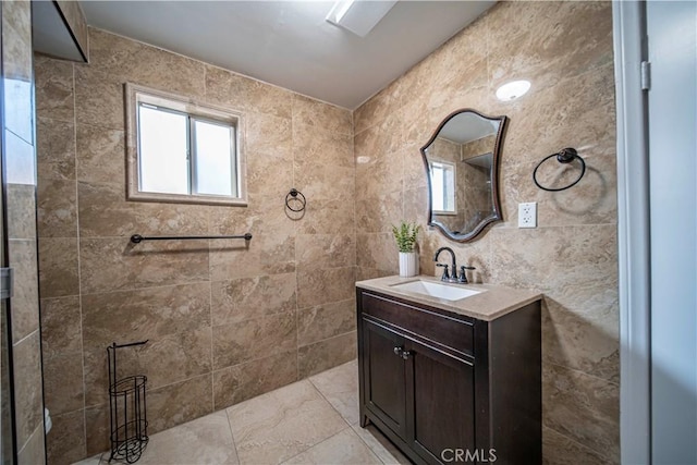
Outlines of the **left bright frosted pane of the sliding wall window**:
{"type": "Polygon", "coordinates": [[[140,191],[188,194],[187,118],[139,106],[140,191]]]}

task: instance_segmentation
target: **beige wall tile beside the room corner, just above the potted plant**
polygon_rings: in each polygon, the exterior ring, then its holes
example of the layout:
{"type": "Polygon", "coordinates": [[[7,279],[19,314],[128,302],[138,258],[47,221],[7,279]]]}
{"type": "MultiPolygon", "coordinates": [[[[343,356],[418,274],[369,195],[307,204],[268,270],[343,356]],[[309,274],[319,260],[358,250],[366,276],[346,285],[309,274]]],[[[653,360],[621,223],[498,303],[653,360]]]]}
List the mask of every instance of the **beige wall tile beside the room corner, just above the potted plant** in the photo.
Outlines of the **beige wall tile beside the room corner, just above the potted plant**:
{"type": "Polygon", "coordinates": [[[391,233],[403,218],[404,196],[392,192],[356,200],[356,233],[391,233]]]}

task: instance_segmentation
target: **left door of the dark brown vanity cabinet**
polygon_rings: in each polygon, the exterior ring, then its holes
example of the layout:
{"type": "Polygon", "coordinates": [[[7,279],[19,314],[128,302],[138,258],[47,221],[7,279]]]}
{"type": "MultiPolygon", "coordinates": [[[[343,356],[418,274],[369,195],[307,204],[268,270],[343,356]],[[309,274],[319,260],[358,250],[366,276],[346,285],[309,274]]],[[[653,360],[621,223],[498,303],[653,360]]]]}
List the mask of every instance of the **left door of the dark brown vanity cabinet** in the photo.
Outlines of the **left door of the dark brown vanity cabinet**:
{"type": "Polygon", "coordinates": [[[372,321],[363,319],[363,382],[365,404],[394,432],[406,432],[404,339],[372,321]]]}

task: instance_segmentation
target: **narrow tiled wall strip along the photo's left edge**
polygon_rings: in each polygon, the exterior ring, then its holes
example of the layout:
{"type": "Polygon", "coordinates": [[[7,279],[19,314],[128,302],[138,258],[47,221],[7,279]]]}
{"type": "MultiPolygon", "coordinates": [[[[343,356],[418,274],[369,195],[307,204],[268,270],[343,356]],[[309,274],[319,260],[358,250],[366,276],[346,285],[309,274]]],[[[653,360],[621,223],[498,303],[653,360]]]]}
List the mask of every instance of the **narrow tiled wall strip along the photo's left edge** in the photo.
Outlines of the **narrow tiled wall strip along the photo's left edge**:
{"type": "MultiPolygon", "coordinates": [[[[42,464],[44,399],[39,333],[38,269],[36,259],[36,152],[32,71],[32,5],[3,1],[2,16],[2,155],[8,266],[14,270],[14,293],[9,304],[9,343],[12,344],[14,432],[17,462],[42,464]]],[[[0,233],[1,235],[2,233],[0,233]]],[[[2,318],[3,325],[7,319],[2,318]]],[[[4,347],[3,334],[3,346],[4,347]]],[[[7,363],[5,355],[2,364],[7,363]]],[[[7,370],[7,367],[3,367],[7,370]]],[[[4,376],[3,376],[3,381],[4,376]]],[[[9,386],[3,382],[4,388],[9,386]]],[[[3,411],[9,407],[2,392],[3,411]]],[[[5,425],[3,424],[3,428],[5,425]]],[[[5,438],[12,433],[2,431],[5,438]]],[[[11,441],[11,439],[10,439],[11,441]]],[[[3,445],[5,445],[3,440],[3,445]]],[[[12,451],[2,451],[8,458],[12,451]]],[[[11,460],[11,458],[9,458],[11,460]]],[[[4,461],[3,461],[4,462],[4,461]]]]}

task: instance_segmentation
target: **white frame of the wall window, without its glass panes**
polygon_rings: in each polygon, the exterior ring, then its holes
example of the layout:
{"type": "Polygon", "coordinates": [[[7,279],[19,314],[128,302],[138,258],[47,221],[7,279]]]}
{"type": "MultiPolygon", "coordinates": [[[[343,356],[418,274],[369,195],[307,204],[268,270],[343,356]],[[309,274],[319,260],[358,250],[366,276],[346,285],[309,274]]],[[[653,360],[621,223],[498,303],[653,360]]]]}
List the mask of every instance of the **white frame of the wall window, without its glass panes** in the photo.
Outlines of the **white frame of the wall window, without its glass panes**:
{"type": "MultiPolygon", "coordinates": [[[[126,197],[129,200],[247,206],[246,159],[242,137],[242,134],[244,134],[242,113],[227,108],[200,105],[195,99],[188,97],[182,97],[131,83],[125,84],[125,100],[127,137],[126,197]],[[140,191],[140,163],[138,154],[138,108],[140,103],[159,107],[173,112],[186,113],[192,119],[191,124],[193,124],[195,120],[199,120],[232,126],[235,148],[235,179],[232,184],[233,188],[236,186],[237,195],[168,194],[140,191]]],[[[192,192],[191,183],[195,183],[196,179],[195,169],[195,162],[192,162],[189,167],[189,192],[192,192]]],[[[195,191],[195,186],[193,191],[195,191]]]]}

